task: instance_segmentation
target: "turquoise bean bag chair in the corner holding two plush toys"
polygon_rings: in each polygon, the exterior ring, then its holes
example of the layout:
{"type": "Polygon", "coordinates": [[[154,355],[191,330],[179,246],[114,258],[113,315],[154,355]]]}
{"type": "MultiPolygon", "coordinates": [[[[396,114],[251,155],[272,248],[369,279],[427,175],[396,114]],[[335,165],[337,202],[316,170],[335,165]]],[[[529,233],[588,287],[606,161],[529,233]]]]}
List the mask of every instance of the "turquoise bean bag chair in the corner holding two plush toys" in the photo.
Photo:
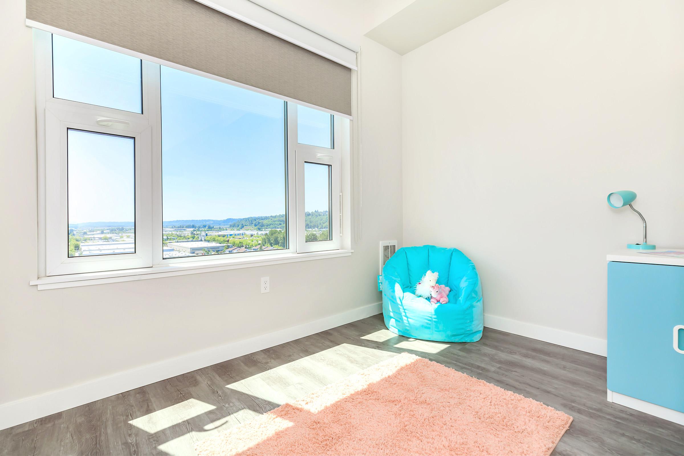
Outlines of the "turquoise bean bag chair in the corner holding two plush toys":
{"type": "Polygon", "coordinates": [[[423,245],[397,250],[382,268],[382,313],[400,336],[438,342],[475,342],[482,337],[482,286],[473,262],[460,250],[423,245]],[[416,296],[428,271],[451,289],[447,304],[416,296]]]}

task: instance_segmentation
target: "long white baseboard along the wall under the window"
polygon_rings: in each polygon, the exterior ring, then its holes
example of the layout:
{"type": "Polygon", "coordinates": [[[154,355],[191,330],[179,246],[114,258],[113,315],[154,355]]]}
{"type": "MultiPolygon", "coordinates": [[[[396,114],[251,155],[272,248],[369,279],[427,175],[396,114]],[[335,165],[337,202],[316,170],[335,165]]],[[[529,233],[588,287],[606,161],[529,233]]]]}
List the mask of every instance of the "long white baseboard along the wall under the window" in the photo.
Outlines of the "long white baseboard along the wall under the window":
{"type": "Polygon", "coordinates": [[[155,381],[161,381],[176,375],[195,371],[202,367],[211,366],[211,364],[254,353],[254,351],[311,336],[311,334],[330,330],[330,328],[345,325],[352,321],[365,319],[380,312],[382,312],[382,303],[369,304],[330,317],[289,327],[285,330],[239,340],[221,347],[196,351],[178,358],[155,362],[148,366],[116,373],[108,377],[101,377],[84,384],[64,388],[63,390],[51,391],[38,396],[5,403],[0,405],[0,429],[20,425],[27,421],[62,412],[63,410],[97,401],[114,394],[140,388],[140,386],[149,385],[155,383],[155,381]]]}

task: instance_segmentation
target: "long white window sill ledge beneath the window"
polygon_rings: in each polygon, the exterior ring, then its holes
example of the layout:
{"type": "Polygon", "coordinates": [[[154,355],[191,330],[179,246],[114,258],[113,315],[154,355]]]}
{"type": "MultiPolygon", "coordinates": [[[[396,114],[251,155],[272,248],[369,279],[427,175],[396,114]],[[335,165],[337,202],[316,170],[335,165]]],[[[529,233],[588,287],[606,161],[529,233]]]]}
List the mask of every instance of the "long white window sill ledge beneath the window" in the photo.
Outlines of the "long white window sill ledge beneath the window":
{"type": "Polygon", "coordinates": [[[88,286],[96,284],[110,284],[113,282],[128,282],[129,280],[146,280],[160,277],[185,276],[201,272],[225,271],[242,267],[257,267],[279,265],[280,263],[294,263],[295,261],[321,260],[323,258],[337,258],[350,256],[354,250],[328,250],[327,252],[309,252],[304,254],[287,253],[262,255],[257,258],[225,258],[221,260],[207,260],[192,263],[175,263],[157,267],[140,269],[123,269],[121,271],[104,271],[66,276],[41,277],[31,280],[30,285],[38,286],[38,290],[70,288],[72,286],[88,286]]]}

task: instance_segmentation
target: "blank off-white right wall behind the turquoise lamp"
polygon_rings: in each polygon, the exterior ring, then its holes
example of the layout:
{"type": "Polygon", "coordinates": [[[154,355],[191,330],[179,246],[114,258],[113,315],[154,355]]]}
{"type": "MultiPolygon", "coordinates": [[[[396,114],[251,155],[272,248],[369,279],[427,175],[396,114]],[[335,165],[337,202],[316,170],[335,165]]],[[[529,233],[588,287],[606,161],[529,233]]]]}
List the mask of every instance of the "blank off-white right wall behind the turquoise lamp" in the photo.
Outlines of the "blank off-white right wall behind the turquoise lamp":
{"type": "Polygon", "coordinates": [[[684,246],[684,2],[510,0],[403,57],[404,245],[485,313],[605,338],[605,254],[684,246]]]}

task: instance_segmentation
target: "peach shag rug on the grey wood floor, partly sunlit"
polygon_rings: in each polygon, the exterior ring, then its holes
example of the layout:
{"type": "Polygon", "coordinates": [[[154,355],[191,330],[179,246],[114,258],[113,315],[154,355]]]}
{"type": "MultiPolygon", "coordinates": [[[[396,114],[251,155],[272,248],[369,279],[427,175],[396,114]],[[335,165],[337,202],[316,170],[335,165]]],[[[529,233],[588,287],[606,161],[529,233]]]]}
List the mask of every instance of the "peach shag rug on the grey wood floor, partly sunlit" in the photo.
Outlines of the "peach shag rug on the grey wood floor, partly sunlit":
{"type": "Polygon", "coordinates": [[[549,455],[573,418],[402,353],[197,444],[199,456],[549,455]]]}

